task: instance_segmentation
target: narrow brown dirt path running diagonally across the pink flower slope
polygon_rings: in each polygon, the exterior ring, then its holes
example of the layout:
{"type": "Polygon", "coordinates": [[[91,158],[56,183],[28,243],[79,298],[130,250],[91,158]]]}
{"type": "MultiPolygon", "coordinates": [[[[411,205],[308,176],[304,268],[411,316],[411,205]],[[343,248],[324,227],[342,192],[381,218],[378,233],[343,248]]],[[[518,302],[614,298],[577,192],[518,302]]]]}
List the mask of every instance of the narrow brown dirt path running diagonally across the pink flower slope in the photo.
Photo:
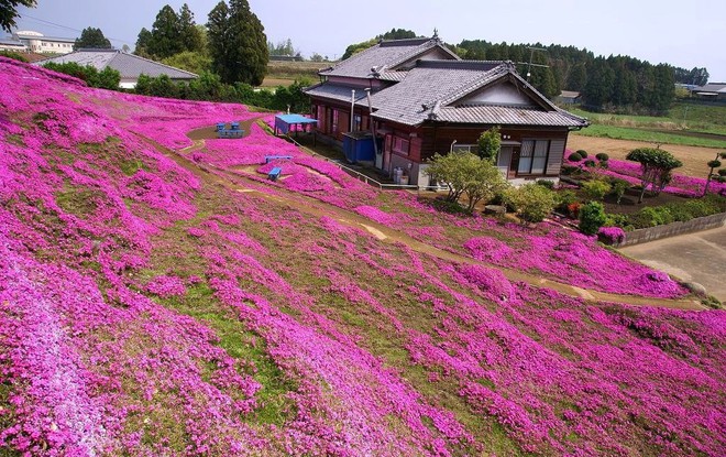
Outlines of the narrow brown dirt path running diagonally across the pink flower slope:
{"type": "Polygon", "coordinates": [[[618,304],[635,305],[635,306],[659,306],[667,308],[697,309],[697,311],[706,309],[705,306],[703,306],[700,302],[695,300],[650,298],[650,297],[641,297],[634,295],[610,294],[610,293],[598,292],[593,290],[583,290],[570,284],[564,284],[561,282],[535,276],[521,271],[505,269],[486,262],[481,262],[466,255],[449,252],[443,249],[439,249],[433,246],[424,243],[421,241],[418,241],[409,237],[408,235],[402,231],[392,229],[391,227],[375,222],[353,211],[339,208],[337,206],[320,202],[312,197],[304,196],[279,187],[275,187],[274,193],[267,193],[264,191],[263,187],[261,187],[262,186],[261,183],[254,179],[245,178],[244,176],[230,173],[227,170],[218,168],[213,165],[197,164],[191,160],[185,157],[180,153],[169,150],[151,139],[144,137],[140,137],[140,138],[146,141],[152,146],[156,148],[163,154],[173,159],[180,166],[189,170],[191,173],[198,176],[202,181],[202,183],[222,185],[233,192],[253,194],[255,196],[262,197],[271,202],[275,202],[277,204],[287,205],[300,213],[315,216],[318,218],[330,217],[349,227],[361,228],[372,233],[382,242],[402,243],[407,246],[409,249],[414,250],[415,252],[431,255],[433,258],[441,259],[444,261],[494,268],[502,271],[502,273],[504,273],[504,275],[510,281],[518,281],[518,282],[520,281],[537,287],[552,289],[562,294],[580,297],[584,300],[618,303],[618,304]]]}

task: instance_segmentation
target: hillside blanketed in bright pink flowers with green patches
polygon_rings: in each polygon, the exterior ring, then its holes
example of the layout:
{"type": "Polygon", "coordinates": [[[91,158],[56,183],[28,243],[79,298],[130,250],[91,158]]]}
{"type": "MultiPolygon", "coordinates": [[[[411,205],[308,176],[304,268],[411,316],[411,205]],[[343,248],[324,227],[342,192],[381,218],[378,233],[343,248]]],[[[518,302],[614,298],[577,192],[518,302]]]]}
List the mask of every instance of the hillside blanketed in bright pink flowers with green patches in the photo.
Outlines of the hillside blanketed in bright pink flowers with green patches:
{"type": "Polygon", "coordinates": [[[0,58],[0,455],[726,454],[723,312],[257,120],[0,58]]]}

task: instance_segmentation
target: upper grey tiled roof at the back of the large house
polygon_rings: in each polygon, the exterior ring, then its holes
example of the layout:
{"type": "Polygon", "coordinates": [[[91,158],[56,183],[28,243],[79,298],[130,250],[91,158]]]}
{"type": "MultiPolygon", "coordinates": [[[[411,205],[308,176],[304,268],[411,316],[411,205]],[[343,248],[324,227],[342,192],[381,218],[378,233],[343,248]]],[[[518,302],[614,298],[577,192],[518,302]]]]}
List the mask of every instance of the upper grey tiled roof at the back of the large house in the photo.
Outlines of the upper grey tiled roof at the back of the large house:
{"type": "Polygon", "coordinates": [[[320,72],[323,76],[345,76],[356,78],[367,78],[371,76],[373,68],[388,68],[396,69],[396,66],[402,65],[418,55],[439,47],[451,58],[458,59],[459,57],[449,51],[438,39],[413,39],[413,40],[394,40],[384,41],[373,47],[369,47],[353,56],[338,63],[329,69],[320,72]]]}

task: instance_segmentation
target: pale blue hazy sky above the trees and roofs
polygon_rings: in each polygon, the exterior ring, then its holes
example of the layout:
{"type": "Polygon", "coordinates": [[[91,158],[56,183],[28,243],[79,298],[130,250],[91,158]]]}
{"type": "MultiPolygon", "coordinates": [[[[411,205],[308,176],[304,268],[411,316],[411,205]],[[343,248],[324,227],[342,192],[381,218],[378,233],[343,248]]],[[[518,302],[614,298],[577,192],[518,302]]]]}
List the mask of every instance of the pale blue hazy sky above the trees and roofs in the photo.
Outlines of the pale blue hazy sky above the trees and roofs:
{"type": "MultiPolygon", "coordinates": [[[[197,23],[219,0],[187,0],[197,23]]],[[[18,30],[77,37],[100,28],[117,47],[133,45],[165,4],[185,1],[37,0],[21,7],[18,30]]],[[[595,55],[629,55],[652,64],[706,67],[711,81],[726,81],[723,0],[249,0],[267,40],[287,39],[302,55],[340,57],[345,47],[391,29],[447,43],[486,40],[585,47],[595,55]]]]}

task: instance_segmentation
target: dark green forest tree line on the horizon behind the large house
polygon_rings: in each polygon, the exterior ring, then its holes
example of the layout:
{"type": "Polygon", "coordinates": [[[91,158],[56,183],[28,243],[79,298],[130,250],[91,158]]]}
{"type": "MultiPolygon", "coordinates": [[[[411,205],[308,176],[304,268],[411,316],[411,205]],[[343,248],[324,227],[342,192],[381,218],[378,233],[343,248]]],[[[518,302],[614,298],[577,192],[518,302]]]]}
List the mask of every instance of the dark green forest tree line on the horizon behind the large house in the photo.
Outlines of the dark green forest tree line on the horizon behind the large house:
{"type": "MultiPolygon", "coordinates": [[[[419,35],[393,29],[374,39],[345,48],[343,58],[377,44],[381,40],[413,39],[419,35]]],[[[630,56],[595,56],[586,48],[551,44],[492,43],[463,40],[447,44],[458,56],[471,61],[512,61],[520,75],[548,98],[562,90],[579,91],[583,107],[594,111],[662,115],[675,97],[676,83],[704,85],[708,70],[653,65],[630,56]]]]}

